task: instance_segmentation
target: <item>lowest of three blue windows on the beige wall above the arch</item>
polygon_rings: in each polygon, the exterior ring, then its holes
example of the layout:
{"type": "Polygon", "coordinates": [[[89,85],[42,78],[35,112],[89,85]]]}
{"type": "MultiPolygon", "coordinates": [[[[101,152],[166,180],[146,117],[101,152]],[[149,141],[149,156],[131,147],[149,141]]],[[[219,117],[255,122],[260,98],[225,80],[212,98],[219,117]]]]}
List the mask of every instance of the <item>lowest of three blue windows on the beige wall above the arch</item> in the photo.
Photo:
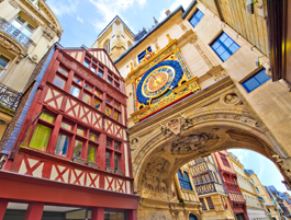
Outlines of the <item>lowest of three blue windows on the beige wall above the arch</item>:
{"type": "Polygon", "coordinates": [[[257,73],[253,74],[250,78],[242,82],[242,85],[249,93],[262,83],[267,82],[269,79],[271,78],[266,74],[266,69],[262,68],[257,73]]]}

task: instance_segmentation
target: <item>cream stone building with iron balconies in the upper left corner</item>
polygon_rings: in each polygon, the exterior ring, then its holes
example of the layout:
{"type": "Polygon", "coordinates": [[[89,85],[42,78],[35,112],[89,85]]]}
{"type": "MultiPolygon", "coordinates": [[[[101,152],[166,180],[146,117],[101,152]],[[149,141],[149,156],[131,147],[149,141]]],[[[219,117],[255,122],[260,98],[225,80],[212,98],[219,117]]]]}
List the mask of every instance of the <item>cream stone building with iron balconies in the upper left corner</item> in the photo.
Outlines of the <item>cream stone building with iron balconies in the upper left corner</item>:
{"type": "Polygon", "coordinates": [[[61,26],[44,0],[0,1],[0,139],[38,61],[61,26]]]}

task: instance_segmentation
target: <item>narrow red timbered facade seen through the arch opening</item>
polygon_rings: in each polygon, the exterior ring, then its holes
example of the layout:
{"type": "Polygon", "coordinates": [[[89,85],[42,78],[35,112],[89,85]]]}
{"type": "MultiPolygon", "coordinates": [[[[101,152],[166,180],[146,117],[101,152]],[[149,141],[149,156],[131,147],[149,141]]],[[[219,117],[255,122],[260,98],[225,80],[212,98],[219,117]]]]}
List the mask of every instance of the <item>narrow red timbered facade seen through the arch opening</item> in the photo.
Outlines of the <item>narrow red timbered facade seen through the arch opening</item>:
{"type": "Polygon", "coordinates": [[[237,220],[248,220],[246,201],[237,184],[236,172],[226,150],[214,153],[219,172],[221,174],[233,212],[237,220]]]}

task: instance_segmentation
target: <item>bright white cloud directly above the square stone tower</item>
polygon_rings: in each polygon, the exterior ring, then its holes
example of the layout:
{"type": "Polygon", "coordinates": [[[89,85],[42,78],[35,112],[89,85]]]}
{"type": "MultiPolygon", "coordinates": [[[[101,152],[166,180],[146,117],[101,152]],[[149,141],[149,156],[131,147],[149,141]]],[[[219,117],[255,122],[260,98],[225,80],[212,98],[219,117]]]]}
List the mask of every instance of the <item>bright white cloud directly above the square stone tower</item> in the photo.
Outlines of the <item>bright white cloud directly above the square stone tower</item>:
{"type": "MultiPolygon", "coordinates": [[[[103,20],[94,20],[92,22],[96,32],[100,33],[108,24],[109,22],[116,15],[121,14],[122,12],[127,11],[128,9],[132,9],[135,7],[144,7],[146,3],[146,0],[89,0],[97,10],[101,13],[103,20]]],[[[124,21],[124,20],[123,20],[124,21]]],[[[126,23],[126,21],[124,21],[126,23]]]]}

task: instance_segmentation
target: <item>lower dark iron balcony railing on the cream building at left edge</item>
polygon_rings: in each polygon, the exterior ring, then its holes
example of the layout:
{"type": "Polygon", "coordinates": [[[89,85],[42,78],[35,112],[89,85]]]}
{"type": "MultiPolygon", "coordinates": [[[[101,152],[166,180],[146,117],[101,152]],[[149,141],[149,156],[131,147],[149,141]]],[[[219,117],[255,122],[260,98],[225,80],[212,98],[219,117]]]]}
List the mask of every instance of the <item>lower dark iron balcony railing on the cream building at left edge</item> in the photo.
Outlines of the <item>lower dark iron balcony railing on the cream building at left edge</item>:
{"type": "Polygon", "coordinates": [[[0,104],[10,109],[16,111],[22,93],[0,83],[0,104]]]}

